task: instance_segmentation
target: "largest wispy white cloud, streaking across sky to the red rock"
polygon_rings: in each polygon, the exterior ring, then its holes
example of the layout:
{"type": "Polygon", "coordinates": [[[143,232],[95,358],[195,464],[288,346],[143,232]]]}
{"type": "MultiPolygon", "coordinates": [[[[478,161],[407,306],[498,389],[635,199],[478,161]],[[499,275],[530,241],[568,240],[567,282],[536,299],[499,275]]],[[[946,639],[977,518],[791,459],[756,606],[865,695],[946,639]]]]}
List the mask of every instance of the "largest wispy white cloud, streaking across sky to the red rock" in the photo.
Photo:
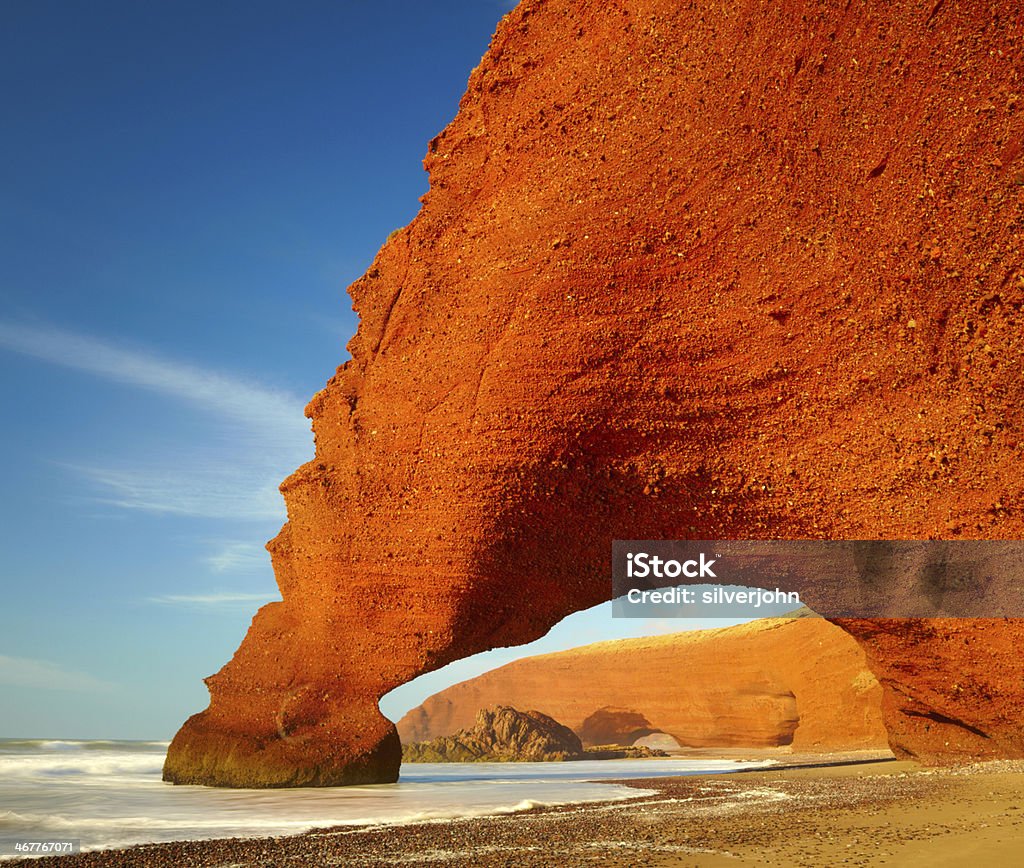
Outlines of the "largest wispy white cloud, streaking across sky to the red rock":
{"type": "Polygon", "coordinates": [[[283,518],[278,485],[312,451],[303,401],[295,395],[46,326],[0,320],[0,349],[164,395],[227,428],[224,437],[145,466],[65,462],[96,486],[103,503],[203,518],[283,518]]]}

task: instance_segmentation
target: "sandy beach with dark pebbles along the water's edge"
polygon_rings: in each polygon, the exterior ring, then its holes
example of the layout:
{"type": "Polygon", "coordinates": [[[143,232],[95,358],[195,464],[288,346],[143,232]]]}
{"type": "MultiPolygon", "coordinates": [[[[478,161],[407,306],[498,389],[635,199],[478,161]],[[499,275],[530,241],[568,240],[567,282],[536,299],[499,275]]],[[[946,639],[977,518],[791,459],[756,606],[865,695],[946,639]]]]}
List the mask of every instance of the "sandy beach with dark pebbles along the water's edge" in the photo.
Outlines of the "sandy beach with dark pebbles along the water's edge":
{"type": "Polygon", "coordinates": [[[1024,858],[1021,761],[924,769],[877,754],[788,756],[769,770],[630,785],[655,792],[498,817],[7,864],[954,866],[1024,858]]]}

